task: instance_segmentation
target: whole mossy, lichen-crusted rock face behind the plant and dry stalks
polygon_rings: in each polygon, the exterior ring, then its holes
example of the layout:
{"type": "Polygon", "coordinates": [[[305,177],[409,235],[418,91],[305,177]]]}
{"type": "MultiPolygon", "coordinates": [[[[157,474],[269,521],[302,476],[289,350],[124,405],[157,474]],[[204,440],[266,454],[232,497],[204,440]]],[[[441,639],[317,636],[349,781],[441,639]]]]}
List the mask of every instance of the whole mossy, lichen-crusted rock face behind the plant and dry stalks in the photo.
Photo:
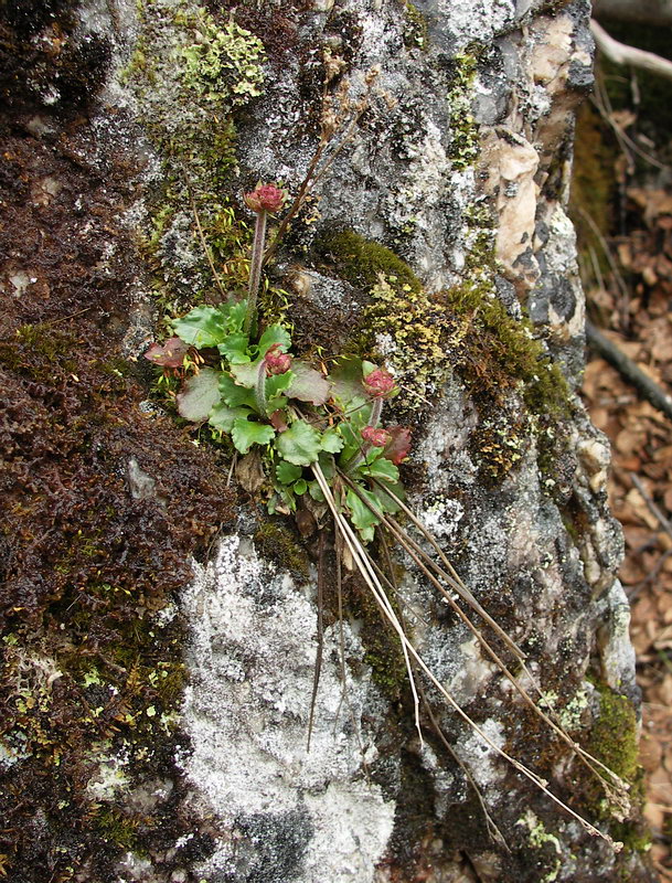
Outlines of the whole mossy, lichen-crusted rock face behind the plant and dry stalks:
{"type": "Polygon", "coordinates": [[[0,14],[7,879],[652,880],[609,451],[576,396],[564,204],[588,2],[0,14]],[[412,509],[526,653],[540,705],[636,786],[625,818],[392,549],[413,645],[478,725],[427,683],[420,740],[348,561],[337,597],[328,520],[266,517],[249,477],[236,500],[228,448],[167,413],[141,355],[167,318],[245,290],[259,180],[305,194],[262,317],[316,363],[395,374],[412,509]]]}

